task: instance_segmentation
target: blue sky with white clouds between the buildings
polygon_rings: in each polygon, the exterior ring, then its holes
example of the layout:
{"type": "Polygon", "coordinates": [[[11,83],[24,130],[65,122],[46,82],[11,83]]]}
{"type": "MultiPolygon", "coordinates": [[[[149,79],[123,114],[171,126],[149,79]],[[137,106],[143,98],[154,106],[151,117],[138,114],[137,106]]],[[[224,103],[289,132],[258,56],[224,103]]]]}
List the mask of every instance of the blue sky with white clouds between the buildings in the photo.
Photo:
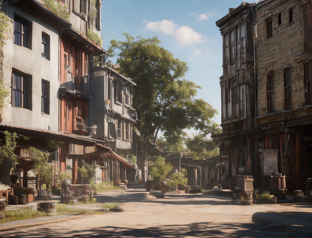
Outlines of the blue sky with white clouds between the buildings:
{"type": "MultiPolygon", "coordinates": [[[[222,37],[216,20],[238,7],[241,0],[119,0],[102,1],[103,48],[123,32],[144,38],[158,36],[161,46],[188,63],[185,79],[202,86],[197,97],[221,114],[219,77],[222,75],[222,37]]],[[[115,63],[114,59],[111,59],[115,63]]],[[[221,123],[221,116],[215,121],[221,123]]],[[[189,136],[194,130],[186,131],[189,136]]]]}

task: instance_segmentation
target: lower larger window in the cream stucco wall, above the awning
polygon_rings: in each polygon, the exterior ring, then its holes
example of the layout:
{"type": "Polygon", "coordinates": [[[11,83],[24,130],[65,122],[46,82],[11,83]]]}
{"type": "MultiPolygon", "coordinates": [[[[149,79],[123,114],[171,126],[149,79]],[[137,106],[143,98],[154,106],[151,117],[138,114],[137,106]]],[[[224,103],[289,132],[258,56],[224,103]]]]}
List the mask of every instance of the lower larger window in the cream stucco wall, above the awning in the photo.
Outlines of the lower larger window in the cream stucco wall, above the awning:
{"type": "Polygon", "coordinates": [[[29,110],[32,105],[32,83],[30,76],[12,71],[12,107],[29,110]]]}

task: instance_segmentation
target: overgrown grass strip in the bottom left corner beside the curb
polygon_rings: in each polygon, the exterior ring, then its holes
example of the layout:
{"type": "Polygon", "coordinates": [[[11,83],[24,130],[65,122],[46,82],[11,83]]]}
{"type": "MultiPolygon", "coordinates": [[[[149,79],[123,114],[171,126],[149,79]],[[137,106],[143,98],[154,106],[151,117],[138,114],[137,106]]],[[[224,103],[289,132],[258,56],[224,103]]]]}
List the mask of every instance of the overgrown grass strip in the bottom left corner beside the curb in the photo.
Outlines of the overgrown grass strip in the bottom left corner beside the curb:
{"type": "Polygon", "coordinates": [[[2,211],[0,212],[0,216],[6,216],[6,219],[1,223],[7,222],[7,221],[17,221],[17,220],[26,220],[31,218],[37,218],[37,217],[44,217],[47,216],[45,212],[39,212],[37,210],[29,209],[29,208],[23,208],[20,210],[12,210],[12,211],[2,211]]]}

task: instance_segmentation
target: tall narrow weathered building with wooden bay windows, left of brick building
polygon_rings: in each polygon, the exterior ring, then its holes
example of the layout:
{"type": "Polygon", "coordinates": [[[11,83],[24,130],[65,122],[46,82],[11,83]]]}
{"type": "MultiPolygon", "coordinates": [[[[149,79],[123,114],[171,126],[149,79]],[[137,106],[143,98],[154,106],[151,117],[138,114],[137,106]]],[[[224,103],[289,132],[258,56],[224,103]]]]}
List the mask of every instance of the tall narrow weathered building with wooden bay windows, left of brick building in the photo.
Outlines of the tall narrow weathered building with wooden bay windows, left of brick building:
{"type": "Polygon", "coordinates": [[[255,165],[255,67],[252,24],[254,4],[242,2],[216,21],[223,38],[221,86],[222,133],[212,135],[220,148],[220,171],[226,186],[236,176],[253,175],[255,165]]]}

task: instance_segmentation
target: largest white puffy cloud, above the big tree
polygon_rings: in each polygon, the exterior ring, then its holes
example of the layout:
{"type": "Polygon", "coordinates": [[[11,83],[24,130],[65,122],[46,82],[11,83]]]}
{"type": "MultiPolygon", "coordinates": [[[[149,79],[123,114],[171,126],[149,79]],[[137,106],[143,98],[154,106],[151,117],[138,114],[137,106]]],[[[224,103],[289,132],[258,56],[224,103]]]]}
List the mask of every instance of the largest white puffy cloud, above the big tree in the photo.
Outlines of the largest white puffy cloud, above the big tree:
{"type": "Polygon", "coordinates": [[[172,20],[168,21],[164,19],[163,21],[149,21],[146,23],[146,29],[159,31],[165,35],[172,35],[183,47],[205,41],[204,37],[200,33],[194,31],[191,27],[179,26],[172,20]]]}

